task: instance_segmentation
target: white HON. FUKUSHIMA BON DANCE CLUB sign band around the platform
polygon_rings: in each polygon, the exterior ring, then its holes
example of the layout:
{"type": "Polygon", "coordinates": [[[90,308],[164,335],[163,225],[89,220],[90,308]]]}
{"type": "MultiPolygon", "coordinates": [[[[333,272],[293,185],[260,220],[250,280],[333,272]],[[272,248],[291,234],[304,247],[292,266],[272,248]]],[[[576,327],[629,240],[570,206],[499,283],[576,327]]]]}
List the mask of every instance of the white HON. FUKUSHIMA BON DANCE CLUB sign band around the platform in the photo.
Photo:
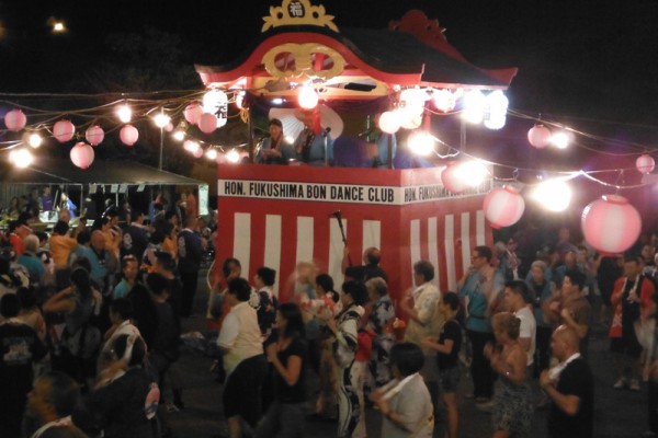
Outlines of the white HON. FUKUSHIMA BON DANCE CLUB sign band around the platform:
{"type": "Polygon", "coordinates": [[[217,188],[220,197],[398,206],[432,201],[445,196],[445,188],[441,184],[399,187],[362,184],[219,180],[217,188]]]}

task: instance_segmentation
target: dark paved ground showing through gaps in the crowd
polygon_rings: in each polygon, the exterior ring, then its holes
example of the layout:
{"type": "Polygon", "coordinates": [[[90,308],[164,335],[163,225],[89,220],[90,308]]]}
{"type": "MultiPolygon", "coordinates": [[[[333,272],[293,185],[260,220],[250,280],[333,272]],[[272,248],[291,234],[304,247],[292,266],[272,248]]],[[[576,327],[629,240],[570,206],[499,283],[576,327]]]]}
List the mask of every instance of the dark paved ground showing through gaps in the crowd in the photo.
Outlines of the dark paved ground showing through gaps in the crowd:
{"type": "MultiPolygon", "coordinates": [[[[196,297],[195,313],[205,314],[207,295],[202,290],[196,297]]],[[[183,322],[185,332],[205,330],[203,318],[191,318],[183,322]]],[[[222,413],[222,385],[214,381],[209,368],[213,359],[203,353],[185,349],[180,367],[183,371],[185,390],[183,397],[185,408],[167,414],[167,422],[175,438],[206,438],[226,431],[226,420],[222,413]]],[[[646,388],[642,392],[616,391],[612,389],[614,372],[612,359],[608,353],[608,339],[602,332],[593,332],[590,342],[590,365],[595,377],[595,428],[599,438],[639,437],[646,429],[646,388]]],[[[470,389],[470,380],[464,373],[460,384],[461,437],[487,437],[491,435],[489,414],[479,412],[474,403],[465,400],[464,394],[470,389]]],[[[546,437],[546,411],[536,411],[532,437],[546,437]]],[[[381,428],[379,413],[366,411],[368,437],[378,437],[381,428]]],[[[307,423],[308,436],[315,438],[336,436],[336,425],[331,423],[307,423]]],[[[441,419],[436,424],[434,437],[443,437],[441,419]]]]}

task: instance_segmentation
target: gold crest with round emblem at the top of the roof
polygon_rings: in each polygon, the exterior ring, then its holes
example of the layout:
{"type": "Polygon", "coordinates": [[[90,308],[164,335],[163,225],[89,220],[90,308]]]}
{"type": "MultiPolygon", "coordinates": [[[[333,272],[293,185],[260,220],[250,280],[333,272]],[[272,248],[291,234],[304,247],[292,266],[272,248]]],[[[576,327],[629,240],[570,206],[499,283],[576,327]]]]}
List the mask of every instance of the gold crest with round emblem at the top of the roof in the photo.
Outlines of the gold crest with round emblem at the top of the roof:
{"type": "Polygon", "coordinates": [[[338,32],[338,26],[333,23],[333,15],[327,15],[324,5],[311,5],[309,0],[283,0],[281,7],[270,7],[270,16],[263,16],[263,28],[279,26],[313,25],[329,27],[338,32]]]}

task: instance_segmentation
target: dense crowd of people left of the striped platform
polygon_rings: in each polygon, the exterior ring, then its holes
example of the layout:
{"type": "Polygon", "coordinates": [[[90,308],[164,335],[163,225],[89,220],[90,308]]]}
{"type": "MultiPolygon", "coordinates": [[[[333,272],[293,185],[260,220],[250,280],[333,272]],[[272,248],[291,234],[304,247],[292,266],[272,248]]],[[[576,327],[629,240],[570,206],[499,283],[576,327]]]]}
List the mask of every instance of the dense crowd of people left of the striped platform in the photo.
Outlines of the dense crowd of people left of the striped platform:
{"type": "Polygon", "coordinates": [[[0,436],[167,435],[157,412],[184,407],[181,318],[212,242],[194,196],[159,196],[148,223],[128,204],[93,224],[63,205],[49,233],[33,230],[44,197],[0,233],[0,436]]]}

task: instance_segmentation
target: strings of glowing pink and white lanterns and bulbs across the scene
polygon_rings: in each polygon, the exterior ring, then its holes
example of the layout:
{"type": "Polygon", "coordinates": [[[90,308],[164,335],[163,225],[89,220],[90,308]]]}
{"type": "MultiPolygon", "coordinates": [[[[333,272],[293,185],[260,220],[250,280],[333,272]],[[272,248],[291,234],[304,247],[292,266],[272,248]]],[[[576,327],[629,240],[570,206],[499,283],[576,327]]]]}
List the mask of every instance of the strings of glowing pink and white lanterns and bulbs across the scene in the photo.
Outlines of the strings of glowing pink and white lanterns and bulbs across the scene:
{"type": "MultiPolygon", "coordinates": [[[[172,132],[173,137],[182,141],[183,148],[193,157],[201,158],[205,154],[211,160],[219,160],[219,154],[215,146],[209,145],[204,149],[202,147],[203,142],[191,138],[186,134],[186,129],[193,125],[201,132],[212,134],[217,128],[224,127],[228,119],[228,105],[235,103],[240,111],[242,111],[241,107],[243,105],[245,91],[234,90],[229,91],[229,94],[223,90],[209,90],[201,96],[201,100],[198,99],[200,94],[195,93],[194,95],[184,95],[164,101],[133,100],[132,103],[137,108],[150,106],[144,112],[141,117],[150,117],[158,128],[172,132]],[[229,94],[231,95],[229,96],[229,94]],[[175,108],[171,110],[171,107],[175,108]],[[180,116],[182,116],[182,119],[174,129],[171,122],[172,117],[180,116]]],[[[319,95],[313,87],[303,85],[299,88],[299,106],[314,108],[318,102],[319,95]]],[[[512,116],[520,115],[520,113],[510,112],[508,105],[507,97],[500,91],[494,91],[485,95],[478,90],[450,91],[409,88],[399,90],[397,100],[393,102],[392,110],[384,112],[378,117],[378,126],[387,134],[395,134],[399,129],[411,130],[408,138],[410,147],[413,147],[421,154],[429,154],[433,151],[436,139],[427,130],[420,129],[420,126],[431,106],[443,114],[458,113],[469,123],[483,123],[489,129],[500,129],[504,126],[508,114],[512,116]],[[455,111],[458,105],[461,107],[455,111]]],[[[115,107],[116,115],[123,124],[118,131],[121,141],[127,147],[133,147],[139,139],[139,130],[132,124],[134,117],[131,105],[123,97],[111,105],[103,105],[102,110],[106,110],[107,106],[115,107]]],[[[99,108],[90,108],[87,112],[92,113],[94,111],[99,111],[99,108]]],[[[84,113],[86,111],[81,110],[71,112],[70,114],[80,116],[84,113]]],[[[46,113],[44,112],[42,117],[45,117],[45,115],[46,113]]],[[[527,118],[527,116],[522,114],[520,116],[527,118]]],[[[98,123],[99,118],[97,116],[84,130],[86,141],[77,141],[69,152],[71,162],[81,169],[89,169],[94,160],[94,147],[98,147],[105,139],[105,130],[98,123]]],[[[44,122],[26,128],[27,116],[19,106],[5,114],[4,125],[11,132],[24,130],[24,134],[20,140],[0,142],[0,146],[4,146],[3,149],[11,150],[9,158],[15,165],[22,168],[30,165],[33,157],[29,149],[22,148],[22,146],[38,148],[42,145],[43,138],[38,135],[37,130],[39,127],[43,128],[44,122]]],[[[50,132],[52,137],[60,143],[71,141],[73,138],[80,140],[80,137],[77,137],[76,126],[68,118],[58,118],[53,124],[50,132]]],[[[529,143],[537,149],[544,149],[549,145],[564,148],[569,140],[568,131],[553,132],[543,120],[536,120],[534,126],[527,131],[529,143]]],[[[224,151],[219,147],[219,150],[226,154],[223,160],[239,161],[240,155],[235,149],[224,151]]],[[[487,175],[492,177],[491,172],[489,172],[485,163],[481,160],[462,160],[449,165],[441,174],[444,187],[450,193],[462,194],[474,186],[478,186],[487,175]]],[[[488,164],[500,165],[497,163],[488,164]]],[[[640,154],[635,164],[636,170],[643,174],[651,173],[655,169],[655,160],[648,153],[640,154]]],[[[554,197],[561,200],[559,206],[553,207],[554,210],[559,211],[568,206],[570,198],[570,192],[566,186],[565,180],[585,175],[606,186],[628,188],[605,183],[593,176],[593,173],[595,172],[583,172],[582,170],[567,172],[566,176],[540,184],[534,191],[534,196],[541,197],[545,196],[546,193],[553,194],[554,197]],[[557,196],[555,196],[556,194],[557,196]]],[[[523,215],[525,201],[519,189],[511,185],[492,188],[484,199],[485,216],[494,228],[514,224],[523,215]]],[[[624,251],[635,242],[642,228],[642,220],[637,210],[624,197],[605,195],[601,199],[591,203],[583,210],[582,226],[583,230],[588,230],[586,232],[586,240],[594,249],[603,253],[617,253],[624,251]],[[608,234],[597,231],[599,228],[595,226],[606,220],[614,220],[614,223],[617,224],[622,223],[623,227],[621,229],[624,231],[622,233],[608,234]]]]}

